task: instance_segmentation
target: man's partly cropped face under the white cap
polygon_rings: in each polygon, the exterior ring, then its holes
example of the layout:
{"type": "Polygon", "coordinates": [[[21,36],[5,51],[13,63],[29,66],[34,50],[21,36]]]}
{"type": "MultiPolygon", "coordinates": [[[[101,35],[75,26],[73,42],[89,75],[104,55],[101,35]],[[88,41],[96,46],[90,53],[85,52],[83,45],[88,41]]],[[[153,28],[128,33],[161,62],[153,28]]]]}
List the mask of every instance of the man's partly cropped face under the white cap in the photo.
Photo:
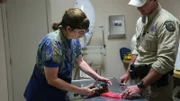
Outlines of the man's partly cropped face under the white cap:
{"type": "Polygon", "coordinates": [[[155,0],[147,0],[147,2],[142,7],[138,7],[137,9],[142,15],[150,15],[154,7],[155,0]]]}

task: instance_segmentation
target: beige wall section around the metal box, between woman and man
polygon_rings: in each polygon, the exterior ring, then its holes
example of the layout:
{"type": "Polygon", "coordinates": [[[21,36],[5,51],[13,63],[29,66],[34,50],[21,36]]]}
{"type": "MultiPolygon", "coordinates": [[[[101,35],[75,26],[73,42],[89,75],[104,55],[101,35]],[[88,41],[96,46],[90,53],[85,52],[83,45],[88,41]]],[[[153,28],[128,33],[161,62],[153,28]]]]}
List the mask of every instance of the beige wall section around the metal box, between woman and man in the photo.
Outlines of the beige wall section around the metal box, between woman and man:
{"type": "Polygon", "coordinates": [[[119,78],[125,72],[120,60],[119,49],[130,47],[130,40],[135,31],[136,19],[139,16],[134,7],[128,6],[128,0],[90,0],[95,8],[96,25],[105,26],[106,53],[104,57],[104,75],[119,78]],[[125,16],[125,39],[108,40],[109,15],[125,16]]]}

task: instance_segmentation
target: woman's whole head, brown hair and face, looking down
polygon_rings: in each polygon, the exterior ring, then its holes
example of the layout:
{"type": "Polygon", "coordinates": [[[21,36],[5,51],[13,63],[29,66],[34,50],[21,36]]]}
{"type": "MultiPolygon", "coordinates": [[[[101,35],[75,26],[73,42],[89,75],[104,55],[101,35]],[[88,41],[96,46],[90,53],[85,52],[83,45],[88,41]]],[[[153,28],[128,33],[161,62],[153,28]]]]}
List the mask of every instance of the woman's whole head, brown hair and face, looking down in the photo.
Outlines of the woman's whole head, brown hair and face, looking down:
{"type": "Polygon", "coordinates": [[[62,21],[59,24],[69,39],[83,37],[88,31],[90,22],[86,14],[78,8],[70,8],[65,11],[62,21]]]}

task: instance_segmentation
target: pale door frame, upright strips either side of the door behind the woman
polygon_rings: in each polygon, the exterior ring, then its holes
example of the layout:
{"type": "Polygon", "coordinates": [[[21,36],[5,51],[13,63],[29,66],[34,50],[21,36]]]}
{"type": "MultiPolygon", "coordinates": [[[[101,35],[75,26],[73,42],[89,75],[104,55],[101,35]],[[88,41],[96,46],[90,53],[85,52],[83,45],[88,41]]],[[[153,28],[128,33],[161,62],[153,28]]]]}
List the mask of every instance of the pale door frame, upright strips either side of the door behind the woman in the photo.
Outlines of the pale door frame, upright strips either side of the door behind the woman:
{"type": "MultiPolygon", "coordinates": [[[[8,2],[8,1],[7,1],[8,2]]],[[[51,31],[51,11],[50,11],[50,1],[46,2],[46,14],[47,14],[47,32],[51,31]]],[[[3,25],[3,37],[4,37],[4,49],[5,49],[5,61],[6,61],[6,77],[7,77],[7,91],[8,91],[8,101],[13,101],[13,76],[12,76],[12,65],[11,65],[11,45],[8,32],[8,19],[7,19],[7,3],[1,4],[2,10],[2,25],[3,25]]]]}

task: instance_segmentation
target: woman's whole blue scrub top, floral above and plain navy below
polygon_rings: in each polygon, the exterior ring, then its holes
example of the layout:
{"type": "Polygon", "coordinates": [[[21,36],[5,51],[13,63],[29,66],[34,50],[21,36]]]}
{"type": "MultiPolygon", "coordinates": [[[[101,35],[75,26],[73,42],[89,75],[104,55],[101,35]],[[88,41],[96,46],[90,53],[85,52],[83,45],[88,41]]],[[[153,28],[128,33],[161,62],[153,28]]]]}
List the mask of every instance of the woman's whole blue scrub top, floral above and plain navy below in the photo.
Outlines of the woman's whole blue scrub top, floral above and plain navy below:
{"type": "Polygon", "coordinates": [[[58,77],[71,83],[80,49],[78,39],[67,39],[59,30],[47,34],[39,43],[36,65],[24,92],[26,101],[66,101],[67,91],[48,84],[44,66],[59,68],[58,77]]]}

